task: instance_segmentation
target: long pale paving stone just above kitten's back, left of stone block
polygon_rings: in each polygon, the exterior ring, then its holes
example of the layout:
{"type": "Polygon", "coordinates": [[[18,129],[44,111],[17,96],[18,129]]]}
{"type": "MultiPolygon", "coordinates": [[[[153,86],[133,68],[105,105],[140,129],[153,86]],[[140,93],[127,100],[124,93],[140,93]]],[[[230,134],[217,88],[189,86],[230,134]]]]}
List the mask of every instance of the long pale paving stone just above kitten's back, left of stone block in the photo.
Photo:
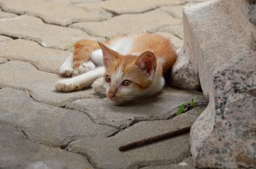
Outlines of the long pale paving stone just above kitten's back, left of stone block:
{"type": "Polygon", "coordinates": [[[170,22],[173,25],[177,25],[181,23],[181,20],[175,19],[163,11],[154,10],[142,14],[122,14],[103,22],[74,23],[69,27],[80,28],[93,36],[113,37],[120,34],[135,34],[142,31],[150,31],[170,22]]]}

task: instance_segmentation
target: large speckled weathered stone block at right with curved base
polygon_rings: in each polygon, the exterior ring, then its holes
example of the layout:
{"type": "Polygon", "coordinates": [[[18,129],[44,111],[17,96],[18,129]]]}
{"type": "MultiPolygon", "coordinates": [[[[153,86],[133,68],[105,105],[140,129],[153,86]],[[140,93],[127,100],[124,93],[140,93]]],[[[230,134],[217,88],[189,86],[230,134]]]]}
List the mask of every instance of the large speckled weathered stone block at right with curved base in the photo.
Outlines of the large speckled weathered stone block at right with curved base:
{"type": "Polygon", "coordinates": [[[198,167],[256,168],[256,27],[237,2],[215,0],[183,10],[183,47],[209,98],[190,132],[198,167]]]}

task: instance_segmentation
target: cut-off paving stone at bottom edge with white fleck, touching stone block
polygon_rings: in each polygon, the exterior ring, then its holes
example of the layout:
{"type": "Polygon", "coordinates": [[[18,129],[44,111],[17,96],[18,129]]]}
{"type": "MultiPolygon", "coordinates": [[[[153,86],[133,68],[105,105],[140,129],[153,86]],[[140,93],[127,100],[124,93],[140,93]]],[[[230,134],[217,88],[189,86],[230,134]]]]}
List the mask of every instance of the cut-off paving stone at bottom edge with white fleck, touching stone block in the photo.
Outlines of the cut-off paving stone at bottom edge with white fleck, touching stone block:
{"type": "Polygon", "coordinates": [[[161,165],[161,166],[146,166],[142,169],[196,169],[193,166],[193,158],[189,157],[177,164],[161,165]]]}

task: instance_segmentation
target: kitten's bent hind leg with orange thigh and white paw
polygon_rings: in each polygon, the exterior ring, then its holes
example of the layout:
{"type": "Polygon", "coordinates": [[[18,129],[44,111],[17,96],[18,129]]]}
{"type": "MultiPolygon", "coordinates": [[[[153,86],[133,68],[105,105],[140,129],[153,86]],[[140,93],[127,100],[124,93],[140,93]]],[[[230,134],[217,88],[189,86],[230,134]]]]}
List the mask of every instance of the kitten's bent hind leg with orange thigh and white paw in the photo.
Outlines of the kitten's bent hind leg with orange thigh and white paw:
{"type": "Polygon", "coordinates": [[[99,49],[99,44],[93,40],[79,40],[74,45],[74,71],[72,76],[83,74],[96,68],[95,64],[88,61],[92,56],[92,52],[99,49]]]}

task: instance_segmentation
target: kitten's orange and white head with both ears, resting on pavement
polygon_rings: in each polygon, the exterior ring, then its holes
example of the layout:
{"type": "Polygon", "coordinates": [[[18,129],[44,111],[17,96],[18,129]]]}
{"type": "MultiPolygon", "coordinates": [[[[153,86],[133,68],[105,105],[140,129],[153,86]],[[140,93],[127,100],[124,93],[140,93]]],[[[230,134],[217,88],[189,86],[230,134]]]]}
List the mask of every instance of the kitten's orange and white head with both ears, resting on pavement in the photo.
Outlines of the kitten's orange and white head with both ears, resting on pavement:
{"type": "Polygon", "coordinates": [[[99,42],[105,67],[104,86],[108,99],[115,103],[136,100],[151,87],[157,59],[150,51],[140,56],[121,55],[99,42]]]}

